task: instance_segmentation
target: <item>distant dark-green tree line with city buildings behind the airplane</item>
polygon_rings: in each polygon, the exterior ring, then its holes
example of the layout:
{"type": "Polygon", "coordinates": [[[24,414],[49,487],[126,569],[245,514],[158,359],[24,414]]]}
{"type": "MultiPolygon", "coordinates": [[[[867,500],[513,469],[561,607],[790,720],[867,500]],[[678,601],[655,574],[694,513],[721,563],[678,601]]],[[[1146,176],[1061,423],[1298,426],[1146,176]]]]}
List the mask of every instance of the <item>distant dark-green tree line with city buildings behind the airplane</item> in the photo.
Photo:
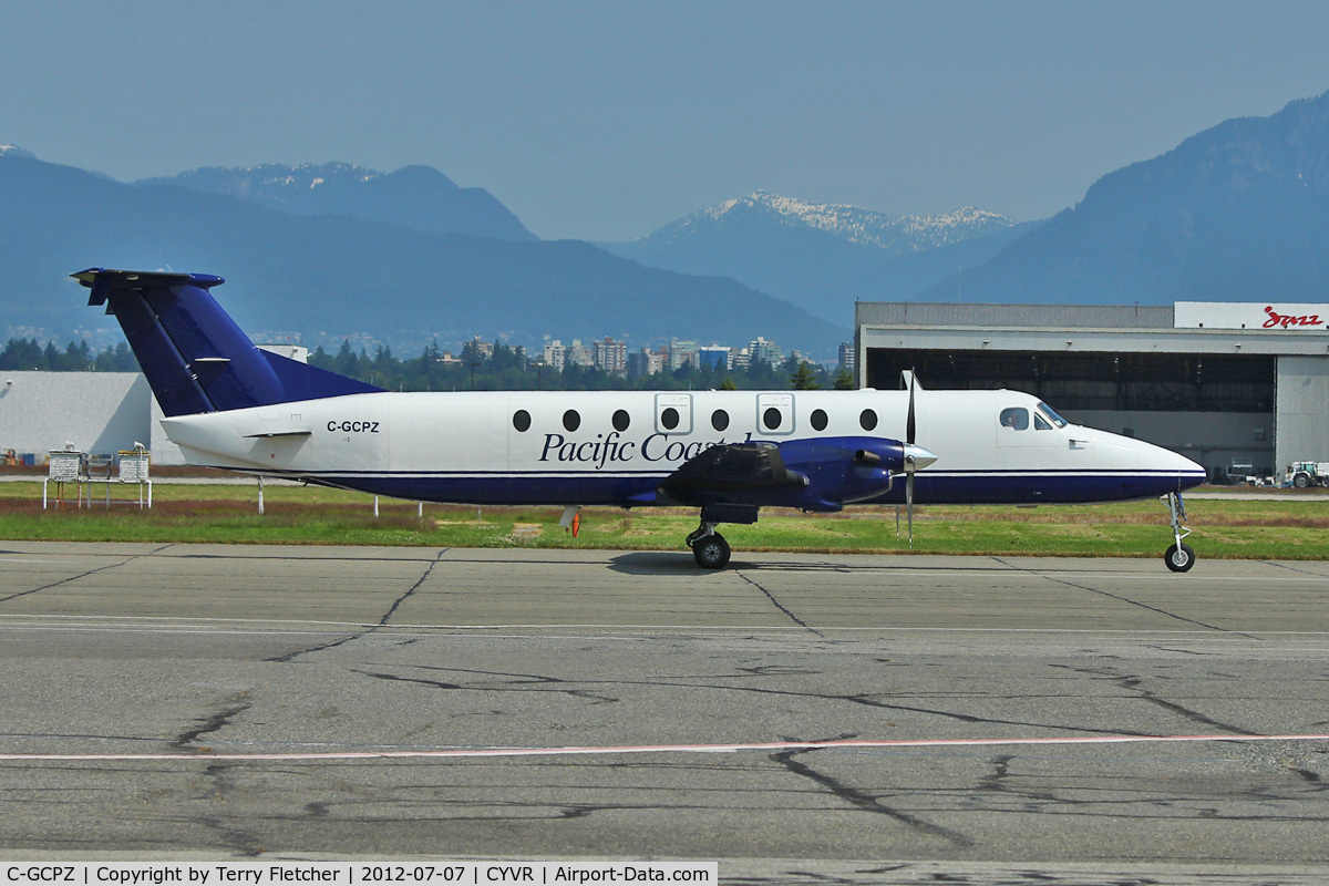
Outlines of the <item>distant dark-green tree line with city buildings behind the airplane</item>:
{"type": "MultiPolygon", "coordinates": [[[[443,360],[437,343],[420,356],[401,360],[392,349],[379,347],[373,356],[355,351],[348,341],[336,353],[322,347],[310,355],[310,364],[368,381],[388,391],[755,391],[793,388],[816,391],[853,388],[848,372],[788,357],[779,365],[758,363],[747,368],[722,369],[691,364],[672,372],[621,376],[597,367],[567,364],[562,371],[534,363],[517,348],[496,341],[492,353],[476,341],[461,349],[457,360],[443,360]]],[[[40,372],[138,372],[129,345],[120,344],[94,353],[86,341],[73,341],[61,351],[54,343],[36,339],[9,339],[0,349],[0,369],[40,372]]]]}

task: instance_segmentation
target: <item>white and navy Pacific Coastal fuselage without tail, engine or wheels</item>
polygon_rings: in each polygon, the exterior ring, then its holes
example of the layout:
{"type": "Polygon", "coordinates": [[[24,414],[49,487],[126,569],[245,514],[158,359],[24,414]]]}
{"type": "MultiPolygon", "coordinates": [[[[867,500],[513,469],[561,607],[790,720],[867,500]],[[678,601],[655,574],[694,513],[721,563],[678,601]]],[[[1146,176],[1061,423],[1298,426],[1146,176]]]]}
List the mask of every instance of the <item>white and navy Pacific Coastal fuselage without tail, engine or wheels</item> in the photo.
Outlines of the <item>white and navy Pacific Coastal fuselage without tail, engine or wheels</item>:
{"type": "MultiPolygon", "coordinates": [[[[198,465],[395,495],[517,505],[650,505],[718,444],[905,440],[906,391],[358,393],[177,416],[198,465]]],[[[1160,446],[1073,425],[1026,393],[917,391],[917,503],[1078,503],[1204,480],[1160,446]]],[[[898,503],[886,482],[857,502],[898,503]]],[[[809,510],[832,507],[811,506],[809,510]]]]}

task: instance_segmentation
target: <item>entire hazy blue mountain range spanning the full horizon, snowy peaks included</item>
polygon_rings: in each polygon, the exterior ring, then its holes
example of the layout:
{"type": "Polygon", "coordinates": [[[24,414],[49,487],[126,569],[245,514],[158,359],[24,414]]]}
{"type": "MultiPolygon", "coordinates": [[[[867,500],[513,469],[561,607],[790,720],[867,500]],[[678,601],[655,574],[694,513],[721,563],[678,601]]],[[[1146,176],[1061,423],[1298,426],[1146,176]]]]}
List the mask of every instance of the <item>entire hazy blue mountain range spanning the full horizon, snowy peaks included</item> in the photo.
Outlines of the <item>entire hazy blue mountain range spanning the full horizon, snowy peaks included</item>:
{"type": "Polygon", "coordinates": [[[1197,133],[1039,222],[756,191],[598,244],[538,240],[488,191],[425,166],[214,167],[126,185],[0,147],[0,332],[90,328],[61,283],[89,264],[222,274],[233,284],[219,295],[250,331],[399,347],[764,335],[828,356],[855,300],[1322,302],[1329,93],[1197,133]]]}

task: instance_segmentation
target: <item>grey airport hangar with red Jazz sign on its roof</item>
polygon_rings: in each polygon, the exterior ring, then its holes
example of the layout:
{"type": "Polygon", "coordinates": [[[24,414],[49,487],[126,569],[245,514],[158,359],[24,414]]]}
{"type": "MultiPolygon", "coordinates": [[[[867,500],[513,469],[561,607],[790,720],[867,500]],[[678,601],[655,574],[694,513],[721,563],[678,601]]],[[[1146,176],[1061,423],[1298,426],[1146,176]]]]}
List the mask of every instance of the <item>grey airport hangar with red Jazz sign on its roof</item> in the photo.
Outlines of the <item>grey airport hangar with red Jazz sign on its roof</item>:
{"type": "Polygon", "coordinates": [[[1216,481],[1329,461],[1329,304],[860,302],[855,356],[860,388],[1023,391],[1216,481]]]}

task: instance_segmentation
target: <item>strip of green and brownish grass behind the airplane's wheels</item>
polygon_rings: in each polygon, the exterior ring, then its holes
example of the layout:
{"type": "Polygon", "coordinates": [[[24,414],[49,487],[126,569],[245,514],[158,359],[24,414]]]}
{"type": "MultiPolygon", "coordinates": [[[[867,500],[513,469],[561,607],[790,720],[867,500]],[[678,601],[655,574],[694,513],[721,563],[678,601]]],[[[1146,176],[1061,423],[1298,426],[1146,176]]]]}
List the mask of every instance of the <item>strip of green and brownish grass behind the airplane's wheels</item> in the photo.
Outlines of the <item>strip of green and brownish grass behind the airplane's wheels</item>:
{"type": "MultiPolygon", "coordinates": [[[[466,507],[372,498],[336,489],[268,486],[266,514],[256,489],[235,485],[153,487],[154,506],[140,510],[137,487],[113,486],[116,503],[41,509],[40,482],[0,484],[0,538],[226,545],[384,545],[427,547],[533,547],[683,550],[696,527],[691,509],[589,507],[573,538],[558,507],[466,507]],[[130,498],[130,495],[133,498],[130,498]]],[[[53,505],[53,502],[52,502],[53,505]]],[[[901,509],[902,510],[902,509],[901,509]]],[[[1188,543],[1201,558],[1329,559],[1329,497],[1288,501],[1192,499],[1188,543]]],[[[906,553],[894,507],[844,514],[762,511],[754,526],[722,527],[739,551],[906,553]]],[[[922,506],[914,511],[913,553],[1039,557],[1160,557],[1172,543],[1160,503],[1042,506],[922,506]]]]}

